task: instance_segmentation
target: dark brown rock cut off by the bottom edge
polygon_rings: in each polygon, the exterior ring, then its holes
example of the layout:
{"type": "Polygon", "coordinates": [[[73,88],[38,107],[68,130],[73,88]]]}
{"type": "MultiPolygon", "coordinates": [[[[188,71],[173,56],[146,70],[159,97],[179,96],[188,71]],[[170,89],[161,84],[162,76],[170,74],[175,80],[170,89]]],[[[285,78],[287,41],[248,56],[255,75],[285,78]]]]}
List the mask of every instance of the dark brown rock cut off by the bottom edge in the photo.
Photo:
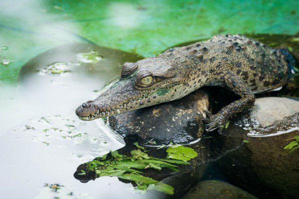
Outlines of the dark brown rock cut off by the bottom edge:
{"type": "Polygon", "coordinates": [[[182,199],[257,199],[247,192],[221,181],[198,183],[182,199]]]}

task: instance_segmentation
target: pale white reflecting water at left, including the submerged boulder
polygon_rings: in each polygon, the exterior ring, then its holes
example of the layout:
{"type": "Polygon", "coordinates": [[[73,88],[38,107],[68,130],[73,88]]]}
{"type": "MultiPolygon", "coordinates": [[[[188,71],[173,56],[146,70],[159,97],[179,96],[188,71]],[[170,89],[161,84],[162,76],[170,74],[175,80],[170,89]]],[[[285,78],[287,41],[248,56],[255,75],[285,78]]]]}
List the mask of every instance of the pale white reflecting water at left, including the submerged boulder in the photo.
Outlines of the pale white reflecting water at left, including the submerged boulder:
{"type": "Polygon", "coordinates": [[[94,45],[62,46],[23,67],[18,86],[0,88],[0,198],[136,197],[132,186],[117,178],[82,184],[73,174],[83,162],[124,146],[98,121],[78,119],[75,109],[119,75],[121,63],[137,59],[134,54],[94,45]],[[77,65],[77,54],[91,49],[104,59],[77,65]],[[46,183],[64,187],[52,192],[44,187],[46,183]]]}

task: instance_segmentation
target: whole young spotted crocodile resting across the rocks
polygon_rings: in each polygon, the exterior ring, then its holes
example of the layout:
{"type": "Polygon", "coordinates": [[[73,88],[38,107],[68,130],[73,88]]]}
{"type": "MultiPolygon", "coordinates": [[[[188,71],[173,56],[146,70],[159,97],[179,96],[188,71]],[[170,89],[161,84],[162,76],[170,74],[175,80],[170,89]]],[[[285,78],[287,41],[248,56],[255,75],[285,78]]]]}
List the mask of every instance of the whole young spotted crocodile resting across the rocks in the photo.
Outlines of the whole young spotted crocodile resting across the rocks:
{"type": "Polygon", "coordinates": [[[205,111],[206,130],[211,131],[251,108],[255,94],[286,86],[292,78],[290,56],[285,49],[268,47],[244,35],[216,35],[170,48],[156,57],[124,63],[120,78],[98,98],[80,105],[76,114],[82,120],[93,120],[177,100],[203,86],[225,87],[240,99],[215,114],[205,111]]]}

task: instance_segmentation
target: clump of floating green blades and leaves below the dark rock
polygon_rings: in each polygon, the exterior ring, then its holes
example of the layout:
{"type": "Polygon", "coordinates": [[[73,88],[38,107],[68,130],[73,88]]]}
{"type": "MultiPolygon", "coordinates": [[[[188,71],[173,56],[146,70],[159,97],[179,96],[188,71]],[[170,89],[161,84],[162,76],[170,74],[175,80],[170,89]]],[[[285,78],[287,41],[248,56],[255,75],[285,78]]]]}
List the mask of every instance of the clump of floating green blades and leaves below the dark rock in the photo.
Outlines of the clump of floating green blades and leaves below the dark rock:
{"type": "Polygon", "coordinates": [[[172,146],[166,152],[167,158],[160,159],[149,156],[144,147],[137,142],[134,143],[137,149],[130,152],[131,156],[119,154],[118,151],[110,151],[102,157],[97,157],[93,161],[85,163],[86,171],[81,170],[78,175],[87,175],[93,172],[97,177],[110,176],[123,180],[133,181],[137,190],[156,190],[166,194],[173,194],[173,187],[152,178],[146,177],[141,170],[163,168],[178,172],[178,165],[190,164],[187,161],[195,158],[197,153],[189,147],[172,146]]]}

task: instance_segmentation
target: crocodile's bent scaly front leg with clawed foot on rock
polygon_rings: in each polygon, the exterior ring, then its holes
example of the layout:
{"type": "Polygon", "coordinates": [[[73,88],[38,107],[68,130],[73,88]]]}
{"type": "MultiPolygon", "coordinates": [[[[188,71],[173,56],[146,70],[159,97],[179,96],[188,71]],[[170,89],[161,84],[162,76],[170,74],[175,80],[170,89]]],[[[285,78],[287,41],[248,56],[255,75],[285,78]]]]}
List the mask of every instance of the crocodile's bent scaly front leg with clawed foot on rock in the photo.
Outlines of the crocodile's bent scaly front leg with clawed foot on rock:
{"type": "Polygon", "coordinates": [[[208,115],[205,121],[206,130],[211,131],[215,128],[226,124],[226,122],[239,112],[251,108],[255,102],[255,96],[248,85],[237,75],[229,70],[224,70],[216,76],[216,81],[224,83],[230,90],[241,96],[240,100],[224,106],[214,115],[208,115]]]}

